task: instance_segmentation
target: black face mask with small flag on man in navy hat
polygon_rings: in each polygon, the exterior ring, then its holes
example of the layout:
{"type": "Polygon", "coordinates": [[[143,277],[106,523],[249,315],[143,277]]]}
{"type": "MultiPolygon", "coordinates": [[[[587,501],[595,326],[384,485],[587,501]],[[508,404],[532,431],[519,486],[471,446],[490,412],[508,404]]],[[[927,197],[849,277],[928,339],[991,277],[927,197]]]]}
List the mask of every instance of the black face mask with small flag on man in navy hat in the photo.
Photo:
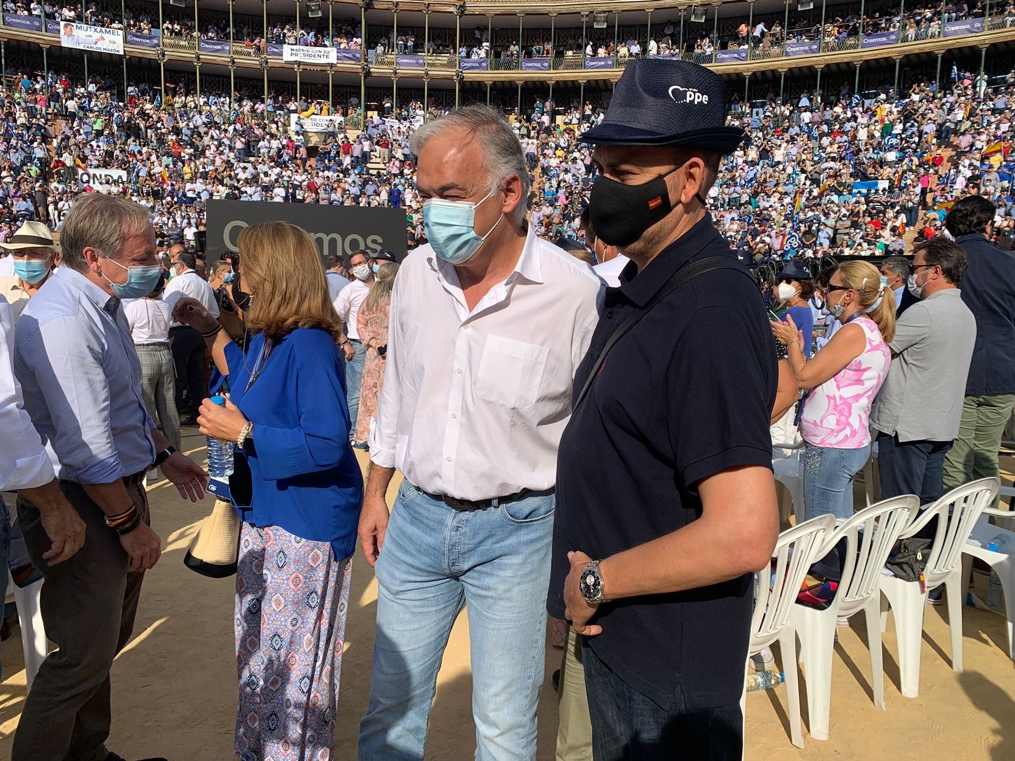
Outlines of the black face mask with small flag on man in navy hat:
{"type": "MultiPolygon", "coordinates": [[[[589,213],[597,237],[609,246],[629,246],[656,222],[665,219],[673,211],[666,178],[685,163],[681,161],[665,175],[641,185],[596,178],[589,198],[589,213]]],[[[704,204],[700,194],[696,197],[704,204]]]]}

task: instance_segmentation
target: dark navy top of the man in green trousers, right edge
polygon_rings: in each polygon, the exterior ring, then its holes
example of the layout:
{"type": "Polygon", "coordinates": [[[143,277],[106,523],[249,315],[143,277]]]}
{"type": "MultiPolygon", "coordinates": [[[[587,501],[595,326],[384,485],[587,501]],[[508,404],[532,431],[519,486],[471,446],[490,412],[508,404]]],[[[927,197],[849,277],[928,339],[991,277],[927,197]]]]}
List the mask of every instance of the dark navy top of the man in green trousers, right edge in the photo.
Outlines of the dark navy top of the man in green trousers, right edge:
{"type": "Polygon", "coordinates": [[[955,243],[969,260],[959,289],[976,318],[966,396],[1015,394],[1015,257],[976,232],[955,243]]]}

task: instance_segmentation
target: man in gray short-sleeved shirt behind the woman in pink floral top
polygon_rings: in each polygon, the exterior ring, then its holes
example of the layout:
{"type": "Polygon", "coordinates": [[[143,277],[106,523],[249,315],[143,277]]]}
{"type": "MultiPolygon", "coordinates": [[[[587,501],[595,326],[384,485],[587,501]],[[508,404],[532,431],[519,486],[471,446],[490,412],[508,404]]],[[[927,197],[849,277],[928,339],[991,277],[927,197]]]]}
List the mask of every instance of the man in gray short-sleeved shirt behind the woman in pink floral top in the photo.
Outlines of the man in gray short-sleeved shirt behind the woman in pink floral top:
{"type": "Polygon", "coordinates": [[[920,300],[895,323],[891,369],[871,416],[882,498],[917,494],[928,504],[944,491],[941,469],[958,435],[976,342],[957,287],[967,267],[965,252],[943,236],[916,251],[908,287],[920,300]]]}

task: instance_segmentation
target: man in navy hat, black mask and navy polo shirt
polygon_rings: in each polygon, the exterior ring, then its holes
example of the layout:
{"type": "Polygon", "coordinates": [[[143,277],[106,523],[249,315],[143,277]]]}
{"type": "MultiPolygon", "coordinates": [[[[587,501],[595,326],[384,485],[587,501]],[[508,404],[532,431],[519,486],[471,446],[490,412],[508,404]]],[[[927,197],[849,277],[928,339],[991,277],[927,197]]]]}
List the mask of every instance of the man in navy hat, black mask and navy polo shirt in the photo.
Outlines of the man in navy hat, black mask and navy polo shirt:
{"type": "Polygon", "coordinates": [[[743,137],[725,109],[707,69],[632,61],[584,134],[592,224],[631,262],[574,378],[547,607],[583,635],[597,761],[743,746],[753,572],[779,534],[777,370],[758,289],[705,210],[743,137]]]}

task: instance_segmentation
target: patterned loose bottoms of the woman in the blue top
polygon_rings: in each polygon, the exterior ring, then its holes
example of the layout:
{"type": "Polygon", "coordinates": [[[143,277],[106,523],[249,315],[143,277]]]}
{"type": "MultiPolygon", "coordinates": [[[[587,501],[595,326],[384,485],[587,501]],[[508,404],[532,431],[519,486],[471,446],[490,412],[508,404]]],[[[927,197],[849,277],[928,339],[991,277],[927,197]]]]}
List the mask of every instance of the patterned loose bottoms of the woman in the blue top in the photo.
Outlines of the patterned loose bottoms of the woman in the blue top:
{"type": "Polygon", "coordinates": [[[277,526],[244,524],[236,568],[241,761],[328,761],[352,558],[277,526]]]}

